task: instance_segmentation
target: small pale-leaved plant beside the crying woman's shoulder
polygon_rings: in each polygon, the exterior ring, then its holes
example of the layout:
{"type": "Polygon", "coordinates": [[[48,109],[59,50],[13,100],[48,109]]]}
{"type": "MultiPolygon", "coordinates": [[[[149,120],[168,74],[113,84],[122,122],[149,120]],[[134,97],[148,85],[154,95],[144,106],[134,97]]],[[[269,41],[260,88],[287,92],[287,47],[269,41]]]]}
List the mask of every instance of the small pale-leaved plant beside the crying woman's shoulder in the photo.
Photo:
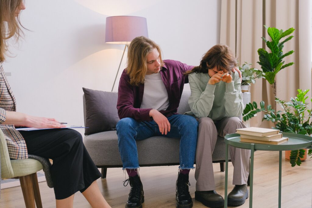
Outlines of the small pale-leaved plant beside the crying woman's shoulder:
{"type": "Polygon", "coordinates": [[[241,71],[242,81],[241,85],[250,85],[256,83],[256,78],[262,77],[262,71],[256,68],[250,68],[251,64],[245,62],[241,67],[239,66],[239,70],[241,71]]]}

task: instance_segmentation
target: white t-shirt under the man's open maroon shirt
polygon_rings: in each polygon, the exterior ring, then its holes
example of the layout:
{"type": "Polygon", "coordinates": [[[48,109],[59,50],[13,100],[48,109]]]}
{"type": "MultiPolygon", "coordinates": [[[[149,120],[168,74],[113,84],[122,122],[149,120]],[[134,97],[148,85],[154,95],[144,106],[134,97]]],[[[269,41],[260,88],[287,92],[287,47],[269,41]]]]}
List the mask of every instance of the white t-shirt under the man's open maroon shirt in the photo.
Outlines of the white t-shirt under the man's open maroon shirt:
{"type": "Polygon", "coordinates": [[[142,109],[152,108],[158,111],[166,110],[169,106],[168,93],[161,74],[145,75],[142,109]]]}

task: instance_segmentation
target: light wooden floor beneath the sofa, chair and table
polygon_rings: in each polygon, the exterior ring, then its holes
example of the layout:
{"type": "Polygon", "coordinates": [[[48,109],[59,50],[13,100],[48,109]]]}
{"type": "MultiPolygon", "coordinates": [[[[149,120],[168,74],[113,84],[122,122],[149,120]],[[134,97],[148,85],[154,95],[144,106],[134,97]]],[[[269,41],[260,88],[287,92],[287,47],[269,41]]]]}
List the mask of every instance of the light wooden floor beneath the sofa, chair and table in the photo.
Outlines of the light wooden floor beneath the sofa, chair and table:
{"type": "MultiPolygon", "coordinates": [[[[278,207],[278,152],[256,151],[254,163],[253,207],[278,207]]],[[[224,172],[220,172],[219,164],[214,164],[217,192],[224,196],[224,172]]],[[[284,160],[282,165],[282,207],[312,207],[312,159],[302,162],[300,167],[291,167],[284,160]]],[[[142,167],[140,175],[144,187],[144,208],[175,207],[175,181],[177,166],[142,167]]],[[[229,186],[232,190],[232,164],[229,163],[229,186]]],[[[190,172],[190,193],[193,207],[205,207],[194,199],[194,172],[190,172]]],[[[124,187],[125,175],[121,168],[111,168],[106,179],[98,179],[100,190],[113,208],[124,208],[128,199],[129,185],[124,187]]],[[[55,207],[53,189],[46,182],[39,183],[43,207],[55,207]]],[[[1,191],[0,208],[25,207],[21,187],[1,191]]],[[[80,192],[76,193],[74,207],[90,207],[80,192]]],[[[249,207],[249,199],[241,208],[249,207]]]]}

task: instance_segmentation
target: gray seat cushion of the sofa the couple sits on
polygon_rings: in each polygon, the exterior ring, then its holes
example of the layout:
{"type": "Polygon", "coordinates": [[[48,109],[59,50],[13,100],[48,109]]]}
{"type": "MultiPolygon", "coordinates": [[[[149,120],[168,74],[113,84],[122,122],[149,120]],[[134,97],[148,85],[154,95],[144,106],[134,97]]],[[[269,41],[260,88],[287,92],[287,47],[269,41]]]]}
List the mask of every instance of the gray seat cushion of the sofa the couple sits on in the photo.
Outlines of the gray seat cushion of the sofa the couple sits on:
{"type": "MultiPolygon", "coordinates": [[[[95,165],[122,166],[116,131],[87,135],[83,138],[83,143],[95,165]]],[[[139,165],[179,163],[180,139],[156,136],[136,141],[136,144],[138,148],[139,165]]],[[[212,160],[224,160],[224,150],[224,138],[218,136],[212,154],[212,160]]]]}

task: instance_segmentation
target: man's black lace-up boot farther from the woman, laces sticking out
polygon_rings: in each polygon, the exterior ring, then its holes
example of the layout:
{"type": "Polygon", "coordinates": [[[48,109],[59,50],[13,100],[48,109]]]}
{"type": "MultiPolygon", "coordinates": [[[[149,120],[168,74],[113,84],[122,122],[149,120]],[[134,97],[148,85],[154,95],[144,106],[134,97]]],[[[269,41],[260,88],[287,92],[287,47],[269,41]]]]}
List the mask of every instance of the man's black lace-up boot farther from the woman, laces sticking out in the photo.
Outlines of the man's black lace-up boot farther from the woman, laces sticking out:
{"type": "Polygon", "coordinates": [[[124,184],[127,182],[130,183],[131,189],[129,192],[129,198],[126,202],[126,208],[142,208],[142,203],[144,203],[144,191],[143,185],[139,175],[134,177],[129,176],[129,179],[124,181],[124,184]]]}

